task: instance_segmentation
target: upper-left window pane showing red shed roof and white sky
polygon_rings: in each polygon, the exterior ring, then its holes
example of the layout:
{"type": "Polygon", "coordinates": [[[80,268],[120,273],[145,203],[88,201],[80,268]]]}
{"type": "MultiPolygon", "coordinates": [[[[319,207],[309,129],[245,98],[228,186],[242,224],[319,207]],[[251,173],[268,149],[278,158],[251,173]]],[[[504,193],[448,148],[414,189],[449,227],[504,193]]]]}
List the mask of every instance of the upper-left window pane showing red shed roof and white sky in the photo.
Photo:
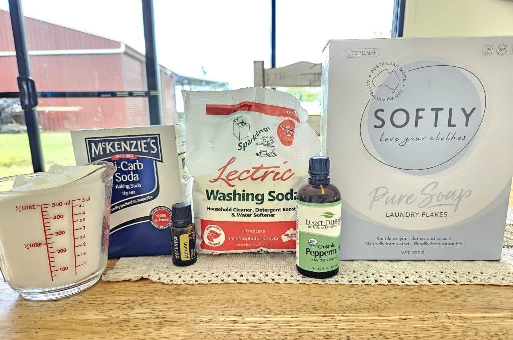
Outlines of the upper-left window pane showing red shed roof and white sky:
{"type": "Polygon", "coordinates": [[[37,91],[146,90],[140,0],[21,3],[37,91]]]}

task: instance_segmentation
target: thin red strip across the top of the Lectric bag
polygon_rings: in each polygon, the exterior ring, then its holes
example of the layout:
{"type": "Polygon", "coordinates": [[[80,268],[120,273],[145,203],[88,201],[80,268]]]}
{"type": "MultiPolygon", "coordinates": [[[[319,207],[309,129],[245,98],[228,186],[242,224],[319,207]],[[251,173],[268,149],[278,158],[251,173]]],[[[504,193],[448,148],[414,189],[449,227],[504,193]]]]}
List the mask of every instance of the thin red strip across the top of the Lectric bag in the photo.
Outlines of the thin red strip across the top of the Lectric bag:
{"type": "Polygon", "coordinates": [[[208,116],[229,116],[236,112],[255,112],[266,116],[290,118],[300,123],[298,113],[293,109],[245,101],[236,105],[209,105],[208,116]]]}

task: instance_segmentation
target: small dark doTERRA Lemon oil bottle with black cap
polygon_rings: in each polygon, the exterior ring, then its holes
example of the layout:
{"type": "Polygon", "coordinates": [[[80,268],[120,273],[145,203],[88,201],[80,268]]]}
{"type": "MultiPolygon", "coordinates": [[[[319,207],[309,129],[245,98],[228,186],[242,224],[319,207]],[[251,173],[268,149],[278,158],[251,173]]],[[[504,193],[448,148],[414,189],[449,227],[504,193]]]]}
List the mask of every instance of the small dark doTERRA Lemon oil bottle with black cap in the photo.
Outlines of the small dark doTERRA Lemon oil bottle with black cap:
{"type": "Polygon", "coordinates": [[[198,261],[196,232],[192,223],[189,203],[176,203],[171,207],[171,254],[175,266],[190,266],[198,261]]]}

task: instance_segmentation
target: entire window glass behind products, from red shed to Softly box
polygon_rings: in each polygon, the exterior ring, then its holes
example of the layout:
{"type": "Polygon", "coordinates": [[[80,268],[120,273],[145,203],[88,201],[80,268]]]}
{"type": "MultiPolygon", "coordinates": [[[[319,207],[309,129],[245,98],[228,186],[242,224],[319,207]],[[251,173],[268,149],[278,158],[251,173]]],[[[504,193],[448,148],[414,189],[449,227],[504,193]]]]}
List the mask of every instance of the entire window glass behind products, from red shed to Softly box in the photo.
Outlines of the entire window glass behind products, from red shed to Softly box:
{"type": "MultiPolygon", "coordinates": [[[[253,61],[264,60],[264,67],[270,67],[272,3],[277,12],[278,66],[320,62],[329,38],[389,36],[393,7],[392,0],[370,4],[322,0],[314,4],[317,11],[311,2],[292,0],[153,0],[161,88],[155,94],[148,91],[148,83],[154,81],[146,74],[147,60],[154,59],[152,53],[144,55],[145,44],[153,41],[152,34],[148,41],[144,35],[151,22],[142,15],[149,13],[142,4],[152,0],[19,1],[38,91],[39,126],[32,124],[29,136],[4,133],[23,132],[25,120],[16,99],[18,70],[9,6],[7,0],[0,0],[0,177],[31,172],[27,137],[33,147],[36,130],[41,131],[46,167],[72,165],[69,130],[147,125],[155,115],[162,123],[183,122],[181,90],[253,86],[253,61]],[[372,11],[367,11],[369,7],[372,11]],[[151,98],[158,98],[160,112],[149,103],[151,98]]],[[[319,89],[285,90],[310,112],[317,110],[319,89]]]]}

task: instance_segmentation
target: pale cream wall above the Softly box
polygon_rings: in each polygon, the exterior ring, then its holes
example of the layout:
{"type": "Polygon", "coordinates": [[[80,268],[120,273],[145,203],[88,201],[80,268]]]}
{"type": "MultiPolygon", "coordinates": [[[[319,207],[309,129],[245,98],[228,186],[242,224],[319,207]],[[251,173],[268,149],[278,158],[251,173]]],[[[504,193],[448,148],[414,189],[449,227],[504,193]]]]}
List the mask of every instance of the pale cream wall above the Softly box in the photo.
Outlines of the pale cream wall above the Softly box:
{"type": "Polygon", "coordinates": [[[513,1],[406,0],[404,37],[513,35],[513,1]]]}

